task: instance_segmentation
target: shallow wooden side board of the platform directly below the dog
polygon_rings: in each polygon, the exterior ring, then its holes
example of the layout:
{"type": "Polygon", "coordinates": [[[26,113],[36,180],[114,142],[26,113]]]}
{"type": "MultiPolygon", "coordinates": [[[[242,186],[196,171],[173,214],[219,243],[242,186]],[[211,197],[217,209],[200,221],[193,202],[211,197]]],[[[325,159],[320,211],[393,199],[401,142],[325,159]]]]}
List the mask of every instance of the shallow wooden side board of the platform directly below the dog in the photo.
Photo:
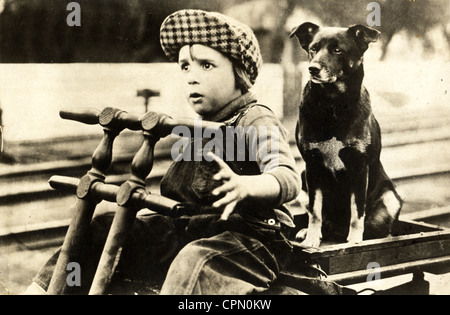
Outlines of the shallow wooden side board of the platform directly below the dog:
{"type": "Polygon", "coordinates": [[[373,262],[380,266],[390,266],[450,256],[450,230],[413,221],[400,221],[396,230],[400,235],[359,244],[302,248],[294,242],[294,246],[301,259],[319,264],[329,275],[359,272],[367,269],[368,264],[373,262]]]}

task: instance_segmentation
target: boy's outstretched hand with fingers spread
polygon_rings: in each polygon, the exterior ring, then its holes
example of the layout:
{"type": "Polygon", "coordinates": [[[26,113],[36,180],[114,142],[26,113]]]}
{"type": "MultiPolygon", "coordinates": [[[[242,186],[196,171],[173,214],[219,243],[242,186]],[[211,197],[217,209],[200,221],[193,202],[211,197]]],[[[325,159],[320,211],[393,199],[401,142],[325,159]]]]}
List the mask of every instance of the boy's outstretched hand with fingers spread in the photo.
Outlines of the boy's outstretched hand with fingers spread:
{"type": "Polygon", "coordinates": [[[222,193],[225,196],[222,199],[217,200],[213,207],[220,208],[225,206],[221,219],[227,220],[231,213],[233,213],[237,203],[248,197],[247,185],[248,177],[239,176],[234,173],[231,168],[217,155],[208,152],[206,155],[214,160],[220,167],[220,171],[213,176],[214,180],[222,181],[223,184],[213,190],[213,195],[218,196],[222,193]]]}

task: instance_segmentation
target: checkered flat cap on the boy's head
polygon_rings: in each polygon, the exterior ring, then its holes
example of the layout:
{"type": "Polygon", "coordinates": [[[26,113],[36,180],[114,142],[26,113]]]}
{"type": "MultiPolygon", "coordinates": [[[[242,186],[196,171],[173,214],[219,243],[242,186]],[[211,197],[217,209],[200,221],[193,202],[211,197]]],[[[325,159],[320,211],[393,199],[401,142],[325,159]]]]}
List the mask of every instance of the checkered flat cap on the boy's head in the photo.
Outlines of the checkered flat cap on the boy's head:
{"type": "Polygon", "coordinates": [[[171,61],[180,49],[201,44],[238,61],[255,83],[262,56],[258,40],[247,25],[218,12],[181,10],[168,16],[161,26],[161,47],[171,61]]]}

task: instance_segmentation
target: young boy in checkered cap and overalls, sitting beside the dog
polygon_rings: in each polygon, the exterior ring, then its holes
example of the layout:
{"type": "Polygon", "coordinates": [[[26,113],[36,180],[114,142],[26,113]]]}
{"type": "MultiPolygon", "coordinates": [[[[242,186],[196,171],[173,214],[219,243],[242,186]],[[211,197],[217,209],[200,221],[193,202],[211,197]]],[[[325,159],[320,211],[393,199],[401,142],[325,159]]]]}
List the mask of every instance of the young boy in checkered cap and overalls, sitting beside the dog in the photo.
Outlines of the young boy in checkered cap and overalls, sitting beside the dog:
{"type": "MultiPolygon", "coordinates": [[[[161,294],[263,292],[291,250],[282,231],[293,222],[283,204],[299,193],[300,178],[283,126],[249,92],[262,63],[258,41],[246,25],[201,10],[170,15],[160,38],[168,58],[180,66],[194,111],[241,133],[233,135],[231,146],[230,138],[224,141],[223,159],[204,151],[200,160],[172,164],[161,194],[201,214],[177,220],[138,215],[119,269],[139,279],[151,269],[170,266],[161,294]],[[238,139],[243,146],[236,144],[238,139]]],[[[192,154],[198,149],[194,140],[185,148],[192,154]]],[[[96,218],[93,235],[105,234],[101,230],[107,221],[96,218]]],[[[48,274],[35,279],[44,289],[48,274]]]]}

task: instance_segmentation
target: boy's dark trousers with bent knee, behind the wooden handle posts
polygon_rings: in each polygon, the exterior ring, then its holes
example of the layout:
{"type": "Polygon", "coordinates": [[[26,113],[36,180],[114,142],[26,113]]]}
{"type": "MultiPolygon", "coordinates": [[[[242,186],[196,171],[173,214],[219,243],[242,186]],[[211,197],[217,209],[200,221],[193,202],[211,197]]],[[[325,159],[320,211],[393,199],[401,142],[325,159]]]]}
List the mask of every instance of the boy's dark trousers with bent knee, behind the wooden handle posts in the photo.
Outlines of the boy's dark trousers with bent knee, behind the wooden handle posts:
{"type": "MultiPolygon", "coordinates": [[[[93,219],[89,246],[77,262],[81,286],[71,287],[69,293],[89,292],[113,216],[107,212],[93,219]]],[[[279,232],[246,225],[239,216],[220,223],[215,218],[174,220],[139,212],[112,282],[159,281],[161,294],[243,295],[267,290],[279,273],[276,257],[289,254],[289,243],[279,232]]],[[[33,280],[44,290],[58,254],[59,250],[33,280]]]]}

